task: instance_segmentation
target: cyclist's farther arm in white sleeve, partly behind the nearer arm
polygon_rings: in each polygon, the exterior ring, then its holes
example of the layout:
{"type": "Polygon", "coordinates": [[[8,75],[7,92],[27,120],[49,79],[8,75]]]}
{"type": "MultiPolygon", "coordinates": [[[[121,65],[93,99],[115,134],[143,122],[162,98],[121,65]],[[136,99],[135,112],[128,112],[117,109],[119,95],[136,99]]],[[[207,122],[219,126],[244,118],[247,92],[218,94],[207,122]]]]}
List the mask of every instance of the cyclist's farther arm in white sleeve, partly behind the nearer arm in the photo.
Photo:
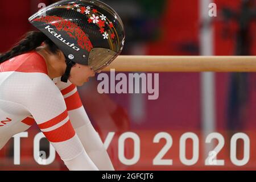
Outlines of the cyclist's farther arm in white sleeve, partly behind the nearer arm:
{"type": "Polygon", "coordinates": [[[67,105],[68,115],[72,125],[90,159],[93,160],[98,169],[103,171],[113,171],[114,167],[108,152],[106,151],[100,136],[90,122],[84,106],[82,106],[76,86],[69,82],[63,89],[61,89],[61,93],[63,94],[65,104],[67,105]]]}

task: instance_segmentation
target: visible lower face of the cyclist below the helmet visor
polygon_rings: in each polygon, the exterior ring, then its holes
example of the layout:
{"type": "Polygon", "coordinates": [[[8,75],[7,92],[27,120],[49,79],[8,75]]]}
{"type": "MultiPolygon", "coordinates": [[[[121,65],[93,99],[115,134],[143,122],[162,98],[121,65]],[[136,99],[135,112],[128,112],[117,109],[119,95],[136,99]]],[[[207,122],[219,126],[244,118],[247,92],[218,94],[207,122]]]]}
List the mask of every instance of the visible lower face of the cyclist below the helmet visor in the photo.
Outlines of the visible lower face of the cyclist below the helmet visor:
{"type": "Polygon", "coordinates": [[[69,81],[77,86],[82,86],[85,82],[89,81],[89,77],[94,77],[95,72],[86,65],[75,64],[71,69],[69,81]]]}

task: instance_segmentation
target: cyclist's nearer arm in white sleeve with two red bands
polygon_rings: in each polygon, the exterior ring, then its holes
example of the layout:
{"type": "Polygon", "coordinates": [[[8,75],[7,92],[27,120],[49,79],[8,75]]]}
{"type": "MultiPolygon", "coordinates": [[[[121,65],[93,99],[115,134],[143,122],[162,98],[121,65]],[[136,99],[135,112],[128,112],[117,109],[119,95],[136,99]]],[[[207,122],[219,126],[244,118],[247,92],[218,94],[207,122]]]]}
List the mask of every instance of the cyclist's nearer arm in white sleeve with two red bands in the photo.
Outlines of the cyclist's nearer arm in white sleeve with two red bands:
{"type": "Polygon", "coordinates": [[[26,84],[23,85],[26,92],[19,97],[19,102],[30,111],[68,169],[98,170],[72,127],[63,96],[56,85],[46,75],[30,78],[26,84]]]}

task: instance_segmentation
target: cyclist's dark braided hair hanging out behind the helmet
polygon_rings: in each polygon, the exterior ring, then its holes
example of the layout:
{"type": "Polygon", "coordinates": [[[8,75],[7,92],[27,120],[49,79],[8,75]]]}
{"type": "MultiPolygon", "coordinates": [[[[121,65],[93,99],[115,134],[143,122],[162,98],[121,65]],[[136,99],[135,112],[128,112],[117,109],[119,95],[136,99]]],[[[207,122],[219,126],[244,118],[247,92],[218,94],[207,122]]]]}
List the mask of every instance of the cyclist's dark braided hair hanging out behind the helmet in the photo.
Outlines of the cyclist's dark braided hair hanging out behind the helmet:
{"type": "Polygon", "coordinates": [[[46,43],[52,53],[56,53],[59,48],[49,39],[46,35],[39,31],[27,32],[23,39],[20,40],[10,51],[2,53],[0,55],[0,64],[9,60],[15,56],[21,55],[23,53],[33,51],[39,47],[42,43],[46,43]]]}

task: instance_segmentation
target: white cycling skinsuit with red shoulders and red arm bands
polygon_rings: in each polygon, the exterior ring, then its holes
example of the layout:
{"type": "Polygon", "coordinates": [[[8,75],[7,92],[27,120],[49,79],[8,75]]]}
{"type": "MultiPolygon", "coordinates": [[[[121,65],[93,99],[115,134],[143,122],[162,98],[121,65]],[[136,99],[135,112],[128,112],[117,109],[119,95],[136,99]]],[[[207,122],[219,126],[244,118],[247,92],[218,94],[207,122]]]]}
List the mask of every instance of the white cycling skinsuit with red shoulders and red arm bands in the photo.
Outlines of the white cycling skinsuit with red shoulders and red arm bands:
{"type": "Polygon", "coordinates": [[[34,122],[69,170],[114,170],[76,86],[51,80],[31,51],[0,64],[0,150],[34,122]]]}

